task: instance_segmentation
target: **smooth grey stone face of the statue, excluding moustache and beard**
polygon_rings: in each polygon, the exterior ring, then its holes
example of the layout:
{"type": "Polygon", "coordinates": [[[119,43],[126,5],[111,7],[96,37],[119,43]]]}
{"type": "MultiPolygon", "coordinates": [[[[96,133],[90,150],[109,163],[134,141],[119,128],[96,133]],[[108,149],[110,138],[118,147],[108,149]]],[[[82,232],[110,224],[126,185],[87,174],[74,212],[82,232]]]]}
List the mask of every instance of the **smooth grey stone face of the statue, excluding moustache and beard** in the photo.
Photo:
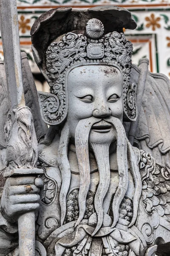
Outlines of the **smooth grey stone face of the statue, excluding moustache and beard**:
{"type": "MultiPolygon", "coordinates": [[[[116,67],[86,65],[68,74],[68,126],[74,138],[81,119],[114,116],[122,121],[122,74],[116,67]]],[[[113,127],[105,120],[92,126],[89,141],[105,142],[115,137],[113,127]]]]}

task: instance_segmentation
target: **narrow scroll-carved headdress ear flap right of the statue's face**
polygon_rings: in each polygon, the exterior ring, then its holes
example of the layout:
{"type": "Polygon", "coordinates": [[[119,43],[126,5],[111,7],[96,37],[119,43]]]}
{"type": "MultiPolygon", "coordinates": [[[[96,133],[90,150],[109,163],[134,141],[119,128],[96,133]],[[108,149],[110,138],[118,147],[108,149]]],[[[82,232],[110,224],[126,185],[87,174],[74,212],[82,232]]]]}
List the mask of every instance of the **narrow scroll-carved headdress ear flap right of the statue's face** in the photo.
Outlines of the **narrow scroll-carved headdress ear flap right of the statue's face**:
{"type": "Polygon", "coordinates": [[[132,122],[137,118],[137,106],[136,106],[136,84],[129,84],[128,90],[124,93],[123,104],[123,121],[132,122]]]}

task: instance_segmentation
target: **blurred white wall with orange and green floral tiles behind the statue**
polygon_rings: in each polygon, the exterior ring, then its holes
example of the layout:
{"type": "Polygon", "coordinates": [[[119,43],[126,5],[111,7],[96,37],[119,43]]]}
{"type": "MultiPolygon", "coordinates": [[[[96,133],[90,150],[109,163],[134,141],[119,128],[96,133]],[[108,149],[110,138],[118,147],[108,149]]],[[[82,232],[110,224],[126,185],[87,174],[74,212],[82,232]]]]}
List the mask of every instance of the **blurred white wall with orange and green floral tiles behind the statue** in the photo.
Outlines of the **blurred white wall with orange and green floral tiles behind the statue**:
{"type": "MultiPolygon", "coordinates": [[[[125,30],[133,43],[133,63],[146,57],[150,71],[164,73],[170,78],[170,0],[17,0],[21,51],[28,55],[37,90],[48,91],[48,84],[40,74],[31,52],[30,29],[42,13],[52,8],[72,6],[86,9],[99,5],[127,8],[136,20],[137,29],[125,30]]],[[[3,59],[0,41],[0,58],[3,59]]]]}

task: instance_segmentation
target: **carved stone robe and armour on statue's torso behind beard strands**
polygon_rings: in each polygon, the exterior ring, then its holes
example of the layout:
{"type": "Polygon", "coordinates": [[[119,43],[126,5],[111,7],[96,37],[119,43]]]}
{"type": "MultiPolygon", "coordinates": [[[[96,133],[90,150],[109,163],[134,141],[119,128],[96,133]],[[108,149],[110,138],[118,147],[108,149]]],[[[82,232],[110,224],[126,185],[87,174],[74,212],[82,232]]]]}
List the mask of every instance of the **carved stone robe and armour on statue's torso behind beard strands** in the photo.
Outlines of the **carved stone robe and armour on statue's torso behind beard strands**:
{"type": "MultiPolygon", "coordinates": [[[[68,159],[71,166],[71,184],[67,198],[65,222],[60,226],[59,192],[62,183],[57,166],[56,136],[49,146],[40,145],[40,166],[44,169],[44,188],[41,192],[41,205],[36,221],[36,255],[48,256],[143,256],[158,237],[168,241],[170,231],[170,178],[167,169],[156,163],[145,151],[133,148],[139,159],[142,178],[142,195],[139,202],[135,225],[128,227],[133,216],[133,178],[129,175],[128,189],[119,209],[119,221],[111,228],[113,221],[111,199],[119,183],[115,154],[110,157],[111,183],[103,203],[103,224],[95,236],[91,236],[96,225],[94,195],[99,183],[96,160],[90,154],[91,186],[86,198],[86,211],[83,220],[74,228],[79,216],[79,170],[75,148],[70,146],[68,159]]],[[[3,241],[0,255],[18,255],[17,226],[9,224],[1,216],[0,239],[3,241]],[[9,251],[12,251],[9,253],[9,251]]],[[[146,254],[146,255],[152,255],[146,254]]]]}

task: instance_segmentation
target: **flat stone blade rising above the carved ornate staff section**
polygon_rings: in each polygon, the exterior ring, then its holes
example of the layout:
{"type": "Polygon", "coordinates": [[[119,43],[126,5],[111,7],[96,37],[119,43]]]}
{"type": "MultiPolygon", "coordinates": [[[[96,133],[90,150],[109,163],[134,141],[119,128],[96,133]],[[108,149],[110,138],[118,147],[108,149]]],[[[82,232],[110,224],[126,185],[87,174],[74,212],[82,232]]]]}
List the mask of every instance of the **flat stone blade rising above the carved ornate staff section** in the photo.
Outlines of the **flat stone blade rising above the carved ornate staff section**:
{"type": "Polygon", "coordinates": [[[12,115],[13,109],[25,105],[16,0],[0,0],[0,24],[12,115]]]}

